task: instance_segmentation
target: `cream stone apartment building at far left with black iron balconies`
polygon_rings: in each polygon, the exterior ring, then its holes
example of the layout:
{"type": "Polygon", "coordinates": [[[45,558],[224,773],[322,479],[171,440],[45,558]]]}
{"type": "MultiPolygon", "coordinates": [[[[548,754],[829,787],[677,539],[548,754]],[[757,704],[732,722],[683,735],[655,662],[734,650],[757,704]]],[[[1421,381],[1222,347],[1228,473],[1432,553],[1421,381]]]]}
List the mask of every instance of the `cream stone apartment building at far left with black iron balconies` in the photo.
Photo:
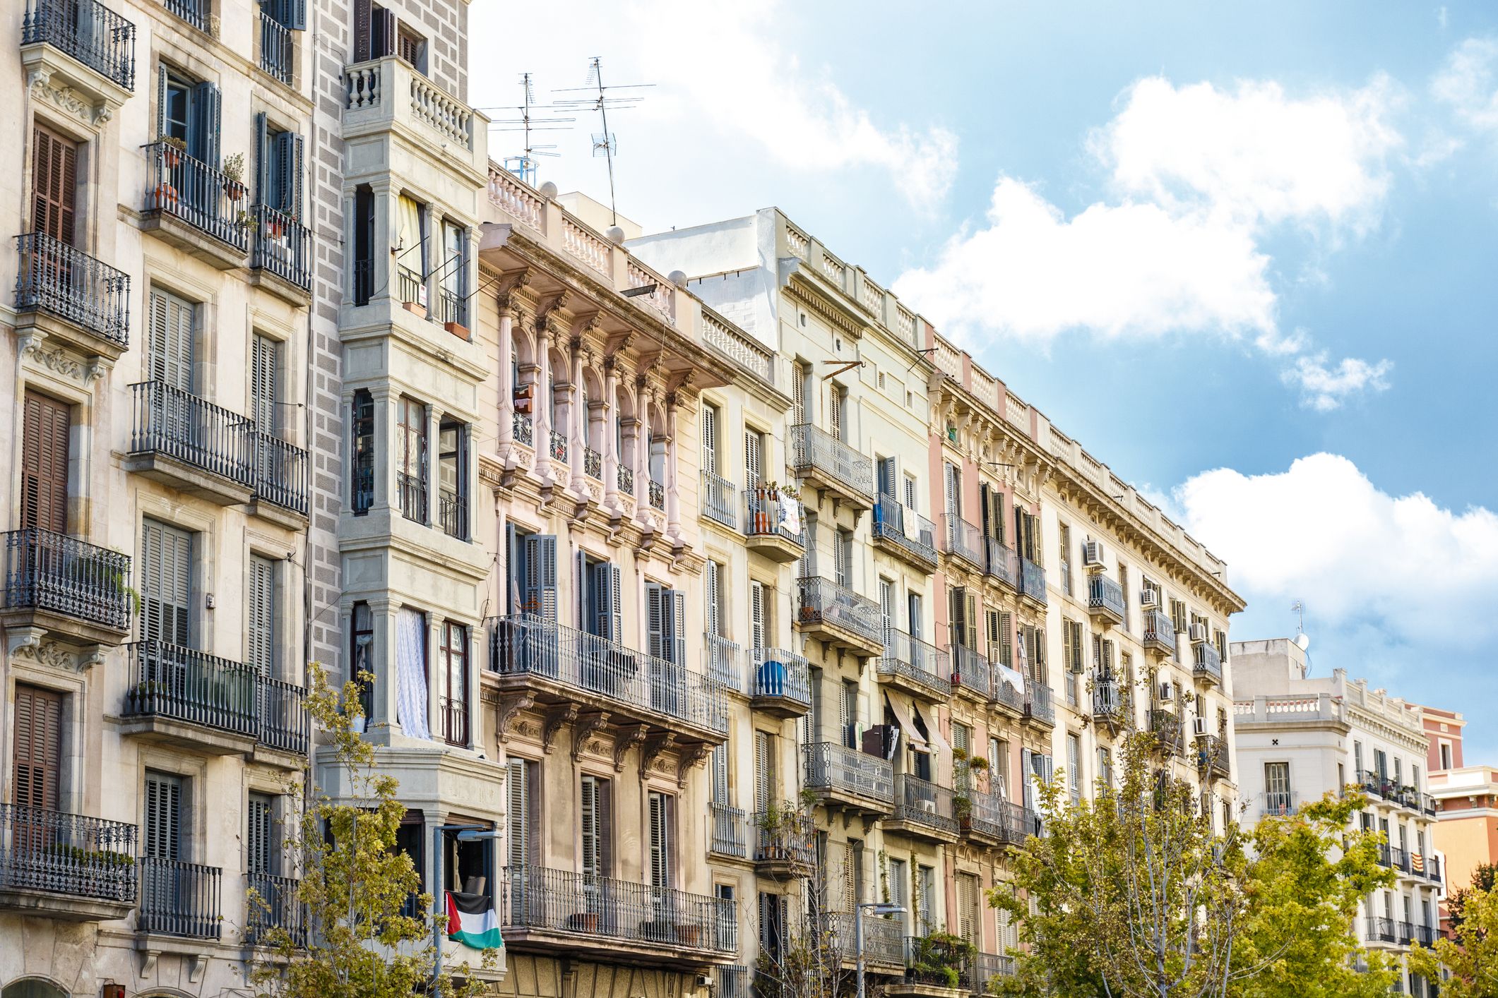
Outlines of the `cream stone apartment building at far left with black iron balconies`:
{"type": "Polygon", "coordinates": [[[301,931],[306,28],[241,0],[0,28],[7,994],[219,994],[301,931]]]}

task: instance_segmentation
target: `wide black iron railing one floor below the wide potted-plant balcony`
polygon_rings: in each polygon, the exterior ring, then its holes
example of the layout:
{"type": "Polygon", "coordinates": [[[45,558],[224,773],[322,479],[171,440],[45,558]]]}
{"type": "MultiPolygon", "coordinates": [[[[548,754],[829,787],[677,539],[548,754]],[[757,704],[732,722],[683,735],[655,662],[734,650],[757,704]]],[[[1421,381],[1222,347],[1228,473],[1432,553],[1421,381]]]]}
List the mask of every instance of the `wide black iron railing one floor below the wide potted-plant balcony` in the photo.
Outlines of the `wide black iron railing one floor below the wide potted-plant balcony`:
{"type": "Polygon", "coordinates": [[[253,486],[252,423],[166,382],[130,386],[132,453],[160,453],[204,471],[253,486]]]}

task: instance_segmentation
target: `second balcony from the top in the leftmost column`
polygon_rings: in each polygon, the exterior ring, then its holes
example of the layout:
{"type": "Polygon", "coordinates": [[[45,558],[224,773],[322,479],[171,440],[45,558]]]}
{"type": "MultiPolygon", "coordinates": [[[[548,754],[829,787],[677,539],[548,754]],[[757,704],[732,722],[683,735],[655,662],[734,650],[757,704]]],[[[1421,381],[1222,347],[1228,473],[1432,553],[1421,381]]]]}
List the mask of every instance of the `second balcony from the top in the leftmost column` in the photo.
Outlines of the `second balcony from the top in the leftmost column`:
{"type": "Polygon", "coordinates": [[[16,331],[117,361],[130,346],[130,275],[43,232],[18,235],[15,248],[16,331]]]}

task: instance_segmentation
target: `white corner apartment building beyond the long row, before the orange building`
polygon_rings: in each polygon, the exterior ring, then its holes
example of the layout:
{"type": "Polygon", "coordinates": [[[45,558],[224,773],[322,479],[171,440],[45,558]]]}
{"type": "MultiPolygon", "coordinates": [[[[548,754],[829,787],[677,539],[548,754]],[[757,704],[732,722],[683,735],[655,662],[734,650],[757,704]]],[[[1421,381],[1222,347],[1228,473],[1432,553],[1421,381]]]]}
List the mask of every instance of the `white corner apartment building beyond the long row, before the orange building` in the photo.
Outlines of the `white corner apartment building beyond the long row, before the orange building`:
{"type": "MultiPolygon", "coordinates": [[[[1359,938],[1396,961],[1411,943],[1429,946],[1444,863],[1432,835],[1434,787],[1422,777],[1428,741],[1420,709],[1342,669],[1309,676],[1303,643],[1288,637],[1233,642],[1231,657],[1245,820],[1291,814],[1327,793],[1360,787],[1368,806],[1357,827],[1383,835],[1380,857],[1398,881],[1363,901],[1359,938]]],[[[1426,995],[1435,982],[1404,973],[1401,988],[1426,995]]]]}

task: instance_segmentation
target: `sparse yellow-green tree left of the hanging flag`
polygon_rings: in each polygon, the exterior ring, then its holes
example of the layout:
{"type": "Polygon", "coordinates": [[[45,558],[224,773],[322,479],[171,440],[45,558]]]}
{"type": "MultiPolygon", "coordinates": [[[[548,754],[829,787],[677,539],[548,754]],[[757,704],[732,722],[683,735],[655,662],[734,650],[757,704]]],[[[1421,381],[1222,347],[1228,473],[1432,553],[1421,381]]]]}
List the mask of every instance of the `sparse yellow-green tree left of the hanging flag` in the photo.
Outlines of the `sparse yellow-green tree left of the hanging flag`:
{"type": "MultiPolygon", "coordinates": [[[[318,663],[309,666],[307,679],[307,711],[357,803],[336,803],[316,787],[310,760],[303,781],[289,787],[292,799],[312,787],[286,842],[301,865],[297,902],[304,905],[309,938],[301,943],[285,928],[267,929],[267,950],[253,961],[250,983],[273,998],[410,998],[430,988],[436,947],[431,895],[418,893],[421,875],[395,847],[406,806],[395,778],[374,771],[374,748],[357,730],[360,685],[330,687],[318,663]]],[[[262,916],[270,913],[265,899],[250,901],[262,916]]],[[[494,953],[485,952],[482,965],[493,962],[494,953]]],[[[439,986],[443,998],[476,998],[485,988],[469,973],[451,971],[439,986]]]]}

